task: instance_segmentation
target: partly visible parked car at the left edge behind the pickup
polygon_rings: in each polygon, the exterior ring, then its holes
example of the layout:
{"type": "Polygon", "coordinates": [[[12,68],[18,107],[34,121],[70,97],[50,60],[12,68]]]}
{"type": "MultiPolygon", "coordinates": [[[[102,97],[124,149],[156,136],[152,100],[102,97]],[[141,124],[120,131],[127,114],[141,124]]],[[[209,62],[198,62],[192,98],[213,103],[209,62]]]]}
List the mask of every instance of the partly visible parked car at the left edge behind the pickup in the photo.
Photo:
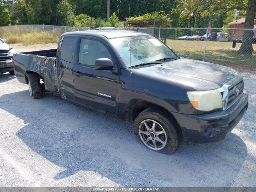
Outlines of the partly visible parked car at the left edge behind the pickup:
{"type": "Polygon", "coordinates": [[[14,75],[12,65],[12,56],[15,53],[14,48],[6,44],[6,40],[0,39],[0,73],[9,72],[14,75]]]}

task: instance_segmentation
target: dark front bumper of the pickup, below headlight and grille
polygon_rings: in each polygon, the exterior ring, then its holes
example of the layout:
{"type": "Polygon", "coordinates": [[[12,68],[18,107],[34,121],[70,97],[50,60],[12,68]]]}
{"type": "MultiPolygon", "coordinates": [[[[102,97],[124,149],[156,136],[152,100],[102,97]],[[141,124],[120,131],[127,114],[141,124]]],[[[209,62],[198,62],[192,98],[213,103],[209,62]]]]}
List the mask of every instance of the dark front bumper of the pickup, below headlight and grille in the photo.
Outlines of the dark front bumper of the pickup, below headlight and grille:
{"type": "Polygon", "coordinates": [[[226,111],[204,115],[173,113],[187,141],[194,143],[223,140],[244,116],[248,108],[248,94],[226,111]]]}

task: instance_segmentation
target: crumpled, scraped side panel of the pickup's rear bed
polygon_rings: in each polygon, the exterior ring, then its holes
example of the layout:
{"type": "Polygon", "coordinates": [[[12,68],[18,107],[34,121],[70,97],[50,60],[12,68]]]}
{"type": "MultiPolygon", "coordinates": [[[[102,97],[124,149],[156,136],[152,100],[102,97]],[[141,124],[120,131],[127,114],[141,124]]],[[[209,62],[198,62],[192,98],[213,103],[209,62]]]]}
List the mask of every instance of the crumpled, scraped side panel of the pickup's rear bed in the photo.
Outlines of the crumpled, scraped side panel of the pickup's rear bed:
{"type": "Polygon", "coordinates": [[[26,83],[25,76],[28,72],[37,73],[43,79],[46,91],[65,98],[60,78],[64,69],[57,66],[56,54],[56,49],[14,54],[16,77],[20,82],[26,83]]]}

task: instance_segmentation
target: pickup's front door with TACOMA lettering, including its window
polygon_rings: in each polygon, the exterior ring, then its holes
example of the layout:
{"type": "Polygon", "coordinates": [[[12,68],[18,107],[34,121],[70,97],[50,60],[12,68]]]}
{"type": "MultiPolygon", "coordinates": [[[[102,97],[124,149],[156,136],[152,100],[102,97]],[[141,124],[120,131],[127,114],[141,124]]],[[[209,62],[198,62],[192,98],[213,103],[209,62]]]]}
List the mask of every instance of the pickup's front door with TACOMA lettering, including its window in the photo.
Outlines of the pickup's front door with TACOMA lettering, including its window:
{"type": "Polygon", "coordinates": [[[117,67],[112,52],[105,42],[94,38],[81,38],[78,46],[78,60],[73,66],[76,102],[118,115],[119,73],[94,68],[98,58],[109,58],[117,67]]]}

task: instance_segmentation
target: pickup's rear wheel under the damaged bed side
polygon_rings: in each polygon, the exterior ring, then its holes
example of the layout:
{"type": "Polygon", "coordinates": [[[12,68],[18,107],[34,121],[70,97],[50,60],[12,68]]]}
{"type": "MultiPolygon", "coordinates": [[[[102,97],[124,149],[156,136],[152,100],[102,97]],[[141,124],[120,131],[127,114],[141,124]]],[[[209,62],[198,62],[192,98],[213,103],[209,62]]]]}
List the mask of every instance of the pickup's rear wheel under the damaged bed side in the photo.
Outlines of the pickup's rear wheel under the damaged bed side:
{"type": "Polygon", "coordinates": [[[28,88],[29,88],[29,94],[34,99],[40,99],[42,98],[42,89],[40,86],[39,78],[34,73],[28,73],[28,88]]]}

